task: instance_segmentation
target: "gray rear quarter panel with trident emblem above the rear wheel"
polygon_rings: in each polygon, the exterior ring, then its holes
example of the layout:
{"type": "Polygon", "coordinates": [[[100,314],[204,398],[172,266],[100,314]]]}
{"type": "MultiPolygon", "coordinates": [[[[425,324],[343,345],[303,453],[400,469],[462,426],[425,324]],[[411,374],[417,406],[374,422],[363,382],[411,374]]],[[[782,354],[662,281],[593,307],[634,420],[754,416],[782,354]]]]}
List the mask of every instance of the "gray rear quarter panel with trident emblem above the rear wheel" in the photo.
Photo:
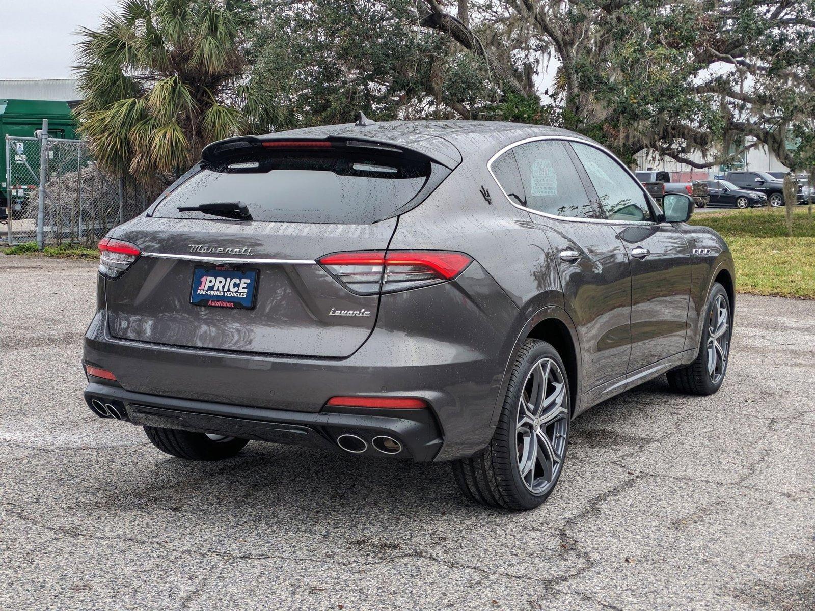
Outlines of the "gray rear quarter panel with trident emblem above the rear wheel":
{"type": "Polygon", "coordinates": [[[522,337],[549,316],[574,327],[564,310],[557,263],[544,231],[531,222],[528,213],[506,200],[487,170],[487,161],[499,149],[497,144],[485,149],[481,140],[474,143],[447,180],[420,206],[399,218],[390,244],[391,249],[431,248],[469,254],[517,309],[504,323],[500,345],[492,348],[500,354],[497,362],[503,367],[496,368],[495,376],[502,381],[489,398],[491,426],[500,415],[506,372],[522,337]],[[489,191],[490,202],[481,187],[489,191]]]}

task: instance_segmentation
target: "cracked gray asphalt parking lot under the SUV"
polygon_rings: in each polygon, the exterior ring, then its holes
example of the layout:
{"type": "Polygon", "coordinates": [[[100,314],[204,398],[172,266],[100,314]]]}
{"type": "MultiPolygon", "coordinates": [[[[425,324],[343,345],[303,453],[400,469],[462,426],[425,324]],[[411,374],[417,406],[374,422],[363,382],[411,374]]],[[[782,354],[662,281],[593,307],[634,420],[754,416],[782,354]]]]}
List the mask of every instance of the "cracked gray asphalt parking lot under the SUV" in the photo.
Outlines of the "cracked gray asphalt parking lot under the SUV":
{"type": "Polygon", "coordinates": [[[0,255],[0,609],[815,608],[815,301],[740,296],[725,385],[575,421],[533,512],[447,464],[191,464],[85,407],[95,264],[0,255]]]}

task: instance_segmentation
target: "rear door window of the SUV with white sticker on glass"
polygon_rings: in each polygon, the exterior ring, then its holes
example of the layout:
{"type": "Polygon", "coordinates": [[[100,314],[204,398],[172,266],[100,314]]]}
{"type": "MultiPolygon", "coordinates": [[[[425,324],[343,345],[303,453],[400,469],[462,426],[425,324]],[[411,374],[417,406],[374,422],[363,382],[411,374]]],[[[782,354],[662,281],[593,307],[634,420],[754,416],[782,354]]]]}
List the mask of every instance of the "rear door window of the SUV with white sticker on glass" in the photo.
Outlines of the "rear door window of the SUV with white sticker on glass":
{"type": "Polygon", "coordinates": [[[594,218],[594,208],[562,142],[539,140],[513,148],[526,206],[568,218],[594,218]]]}

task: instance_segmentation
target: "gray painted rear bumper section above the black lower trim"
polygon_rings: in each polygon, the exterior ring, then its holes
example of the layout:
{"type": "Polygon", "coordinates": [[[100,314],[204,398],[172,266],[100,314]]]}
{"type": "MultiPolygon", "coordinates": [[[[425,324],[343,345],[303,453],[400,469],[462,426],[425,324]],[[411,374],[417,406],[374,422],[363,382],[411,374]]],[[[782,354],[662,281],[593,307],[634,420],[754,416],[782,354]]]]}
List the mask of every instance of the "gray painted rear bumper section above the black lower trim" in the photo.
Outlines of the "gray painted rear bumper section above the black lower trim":
{"type": "MultiPolygon", "coordinates": [[[[173,409],[174,403],[168,402],[187,402],[181,410],[187,415],[177,417],[183,426],[177,428],[193,430],[189,423],[195,419],[189,414],[200,414],[202,406],[247,410],[237,414],[239,420],[280,424],[285,415],[284,421],[293,424],[326,426],[324,406],[331,397],[421,398],[430,405],[425,411],[437,427],[434,434],[421,433],[421,443],[430,443],[431,437],[441,442],[431,452],[405,440],[416,460],[464,458],[487,445],[519,332],[518,309],[475,262],[455,283],[383,295],[376,327],[348,358],[292,358],[121,340],[108,333],[104,293],[99,306],[86,332],[85,362],[112,371],[124,392],[152,398],[148,407],[173,409]]],[[[134,404],[144,401],[138,398],[134,404]]],[[[143,424],[142,414],[139,410],[131,420],[143,424]]],[[[393,410],[390,417],[406,419],[393,410]]],[[[243,437],[267,438],[247,431],[244,421],[223,424],[240,424],[243,437]]],[[[380,424],[365,426],[375,429],[380,424]]],[[[336,437],[324,429],[318,432],[333,446],[336,437]]],[[[261,433],[268,436],[267,431],[261,433]]],[[[306,437],[313,436],[306,432],[295,438],[306,437]]]]}

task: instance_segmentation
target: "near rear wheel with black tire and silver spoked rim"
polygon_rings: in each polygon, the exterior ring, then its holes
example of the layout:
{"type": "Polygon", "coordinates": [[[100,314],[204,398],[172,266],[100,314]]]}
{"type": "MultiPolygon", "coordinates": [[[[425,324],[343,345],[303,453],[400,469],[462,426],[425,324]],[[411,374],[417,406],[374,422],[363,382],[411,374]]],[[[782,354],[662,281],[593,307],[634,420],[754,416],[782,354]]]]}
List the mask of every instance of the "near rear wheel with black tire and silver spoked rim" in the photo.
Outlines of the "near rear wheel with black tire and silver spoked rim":
{"type": "Polygon", "coordinates": [[[527,339],[515,358],[491,442],[478,455],[452,465],[462,493],[490,507],[538,507],[552,494],[562,473],[570,416],[569,379],[560,355],[545,341],[527,339]],[[525,405],[530,401],[540,405],[526,409],[522,398],[525,405]],[[526,476],[522,464],[527,467],[526,476]]]}

